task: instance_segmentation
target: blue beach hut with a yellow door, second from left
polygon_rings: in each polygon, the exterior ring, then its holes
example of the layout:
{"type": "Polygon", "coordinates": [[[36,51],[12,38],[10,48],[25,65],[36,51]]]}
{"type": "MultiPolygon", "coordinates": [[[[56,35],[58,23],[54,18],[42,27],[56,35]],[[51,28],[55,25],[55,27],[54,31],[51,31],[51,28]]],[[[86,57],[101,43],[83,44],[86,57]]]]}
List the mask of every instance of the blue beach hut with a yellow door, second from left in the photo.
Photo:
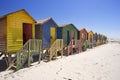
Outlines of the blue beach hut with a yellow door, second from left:
{"type": "Polygon", "coordinates": [[[58,25],[52,18],[37,21],[35,25],[35,38],[42,39],[43,48],[48,49],[56,40],[56,27],[58,25]]]}

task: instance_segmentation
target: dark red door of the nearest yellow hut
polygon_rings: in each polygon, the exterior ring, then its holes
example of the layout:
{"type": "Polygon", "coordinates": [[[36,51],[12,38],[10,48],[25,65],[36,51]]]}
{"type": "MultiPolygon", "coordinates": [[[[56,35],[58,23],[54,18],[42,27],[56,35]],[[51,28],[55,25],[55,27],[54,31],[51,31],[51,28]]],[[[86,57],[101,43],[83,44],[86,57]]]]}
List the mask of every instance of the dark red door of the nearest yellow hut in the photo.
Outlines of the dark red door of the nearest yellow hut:
{"type": "Polygon", "coordinates": [[[23,23],[23,44],[32,39],[32,24],[23,23]]]}

